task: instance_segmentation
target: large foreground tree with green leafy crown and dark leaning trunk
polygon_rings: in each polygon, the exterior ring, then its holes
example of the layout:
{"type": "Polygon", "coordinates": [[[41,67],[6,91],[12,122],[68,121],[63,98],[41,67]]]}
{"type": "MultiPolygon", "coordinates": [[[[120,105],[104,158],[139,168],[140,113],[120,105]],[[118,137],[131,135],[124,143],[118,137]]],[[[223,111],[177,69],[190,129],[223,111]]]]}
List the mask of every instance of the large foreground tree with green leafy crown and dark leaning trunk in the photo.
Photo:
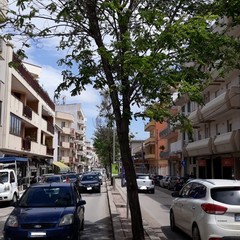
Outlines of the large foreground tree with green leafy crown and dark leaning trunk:
{"type": "MultiPolygon", "coordinates": [[[[132,219],[133,239],[144,239],[136,174],[129,148],[133,117],[169,118],[173,90],[202,103],[201,91],[220,74],[239,67],[239,41],[228,29],[239,21],[237,0],[17,0],[2,22],[8,39],[59,37],[65,67],[56,93],[87,84],[108,92],[116,122],[132,219]],[[223,16],[228,16],[220,21],[223,16]],[[40,26],[40,20],[48,24],[40,26]],[[231,21],[229,21],[231,19],[231,21]],[[10,24],[10,25],[9,25],[10,24]],[[47,27],[46,27],[47,26],[47,27]],[[14,30],[14,31],[12,31],[14,30]],[[5,30],[6,31],[6,30],[5,30]],[[133,113],[134,106],[145,108],[133,113]]],[[[27,41],[24,46],[29,46],[27,41]]],[[[24,56],[24,51],[18,52],[24,56]]],[[[183,116],[178,116],[182,123],[183,116]]]]}

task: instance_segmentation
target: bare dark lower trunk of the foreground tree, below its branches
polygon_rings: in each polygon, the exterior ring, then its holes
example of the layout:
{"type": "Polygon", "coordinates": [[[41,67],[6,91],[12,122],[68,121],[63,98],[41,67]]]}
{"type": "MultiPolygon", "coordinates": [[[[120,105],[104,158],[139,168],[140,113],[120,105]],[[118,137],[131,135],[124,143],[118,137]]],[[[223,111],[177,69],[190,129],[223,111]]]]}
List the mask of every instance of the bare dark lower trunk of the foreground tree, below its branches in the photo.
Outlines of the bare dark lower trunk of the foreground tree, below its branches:
{"type": "Polygon", "coordinates": [[[127,194],[131,213],[133,240],[144,240],[142,214],[138,198],[136,173],[129,144],[129,125],[127,120],[122,119],[122,124],[120,125],[117,123],[117,132],[122,164],[127,181],[127,194]]]}

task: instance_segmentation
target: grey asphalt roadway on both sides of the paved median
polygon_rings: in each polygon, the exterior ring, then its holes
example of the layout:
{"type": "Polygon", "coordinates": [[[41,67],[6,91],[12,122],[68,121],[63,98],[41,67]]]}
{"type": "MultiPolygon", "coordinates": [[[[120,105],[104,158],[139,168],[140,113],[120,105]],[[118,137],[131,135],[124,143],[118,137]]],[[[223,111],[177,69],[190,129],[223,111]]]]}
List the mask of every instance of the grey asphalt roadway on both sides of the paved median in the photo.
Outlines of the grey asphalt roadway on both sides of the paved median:
{"type": "MultiPolygon", "coordinates": [[[[120,186],[120,179],[116,179],[116,186],[126,194],[126,188],[120,186]]],[[[81,233],[83,240],[112,240],[112,223],[107,202],[107,189],[104,182],[101,193],[83,193],[85,205],[85,229],[81,233]]],[[[169,208],[172,202],[171,191],[156,187],[155,194],[139,193],[143,220],[157,233],[159,229],[168,240],[190,240],[182,232],[172,232],[169,224],[169,208]]],[[[3,240],[2,230],[4,222],[13,208],[7,204],[0,207],[0,240],[3,240]]],[[[129,215],[130,216],[130,215],[129,215]]],[[[164,239],[161,236],[161,239],[164,239]]]]}

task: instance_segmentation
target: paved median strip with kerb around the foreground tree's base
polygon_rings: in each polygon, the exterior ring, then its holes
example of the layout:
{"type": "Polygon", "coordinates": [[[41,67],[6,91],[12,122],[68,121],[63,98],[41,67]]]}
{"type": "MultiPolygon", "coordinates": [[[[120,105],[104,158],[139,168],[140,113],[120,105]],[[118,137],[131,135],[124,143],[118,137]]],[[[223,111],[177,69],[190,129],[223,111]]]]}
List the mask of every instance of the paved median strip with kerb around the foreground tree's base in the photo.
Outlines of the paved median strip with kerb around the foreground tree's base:
{"type": "MultiPolygon", "coordinates": [[[[121,181],[115,180],[114,186],[107,183],[107,193],[109,210],[113,224],[114,240],[131,240],[132,229],[131,229],[131,216],[130,212],[127,214],[127,197],[126,188],[121,187],[121,181]]],[[[148,222],[143,216],[143,228],[145,232],[146,240],[166,240],[161,229],[152,229],[148,222]],[[157,231],[156,231],[157,230],[157,231]],[[162,237],[161,237],[162,236],[162,237]]]]}

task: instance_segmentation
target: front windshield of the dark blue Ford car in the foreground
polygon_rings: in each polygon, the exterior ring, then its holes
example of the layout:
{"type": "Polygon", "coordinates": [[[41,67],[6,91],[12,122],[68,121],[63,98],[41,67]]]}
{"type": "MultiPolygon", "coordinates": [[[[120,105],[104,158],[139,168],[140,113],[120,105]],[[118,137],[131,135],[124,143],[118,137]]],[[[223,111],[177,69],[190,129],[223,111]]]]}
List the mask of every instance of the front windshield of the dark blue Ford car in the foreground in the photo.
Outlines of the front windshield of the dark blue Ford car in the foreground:
{"type": "Polygon", "coordinates": [[[68,207],[73,206],[70,187],[32,187],[19,201],[20,207],[68,207]]]}

